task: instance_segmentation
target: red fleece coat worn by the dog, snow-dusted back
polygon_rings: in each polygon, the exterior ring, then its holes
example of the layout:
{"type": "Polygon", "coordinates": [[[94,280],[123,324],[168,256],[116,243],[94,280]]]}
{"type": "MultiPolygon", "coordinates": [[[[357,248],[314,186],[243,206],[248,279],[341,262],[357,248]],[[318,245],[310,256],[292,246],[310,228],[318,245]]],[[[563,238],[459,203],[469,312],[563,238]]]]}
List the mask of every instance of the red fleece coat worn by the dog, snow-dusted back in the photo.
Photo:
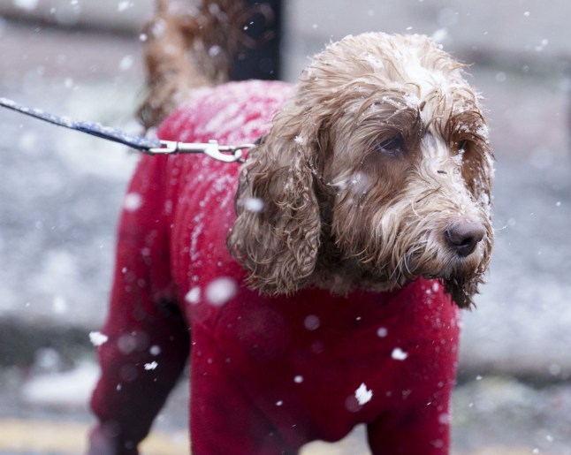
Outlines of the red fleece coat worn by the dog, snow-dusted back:
{"type": "MultiPolygon", "coordinates": [[[[251,142],[290,93],[260,81],[207,89],[159,134],[251,142]]],[[[194,455],[291,454],[359,423],[375,454],[447,453],[459,326],[442,286],[249,291],[225,247],[238,173],[206,156],[141,159],[118,228],[92,453],[137,453],[189,353],[194,455]]]]}

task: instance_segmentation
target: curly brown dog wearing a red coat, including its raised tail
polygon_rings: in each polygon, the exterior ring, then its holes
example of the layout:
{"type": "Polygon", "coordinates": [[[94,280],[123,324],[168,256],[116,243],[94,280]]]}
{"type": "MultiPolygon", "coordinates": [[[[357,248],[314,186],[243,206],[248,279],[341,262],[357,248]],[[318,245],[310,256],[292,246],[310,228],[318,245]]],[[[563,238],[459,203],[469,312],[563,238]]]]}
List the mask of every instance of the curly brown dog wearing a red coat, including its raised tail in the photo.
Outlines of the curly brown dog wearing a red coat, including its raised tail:
{"type": "MultiPolygon", "coordinates": [[[[148,46],[169,61],[160,40],[188,43],[161,20],[148,46]]],[[[187,96],[161,138],[255,147],[241,168],[141,158],[90,453],[138,453],[187,360],[196,455],[294,454],[358,424],[374,454],[448,453],[459,308],[493,244],[493,155],[463,68],[424,36],[369,33],[331,43],[296,86],[155,85],[147,118],[187,96]]]]}

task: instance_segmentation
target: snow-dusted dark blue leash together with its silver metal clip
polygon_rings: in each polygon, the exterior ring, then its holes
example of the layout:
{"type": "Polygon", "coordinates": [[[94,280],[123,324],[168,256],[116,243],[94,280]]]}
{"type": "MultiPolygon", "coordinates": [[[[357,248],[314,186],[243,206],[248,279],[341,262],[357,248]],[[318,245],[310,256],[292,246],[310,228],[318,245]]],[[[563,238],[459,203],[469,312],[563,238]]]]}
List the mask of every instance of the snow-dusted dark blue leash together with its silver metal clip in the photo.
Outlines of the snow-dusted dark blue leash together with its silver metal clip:
{"type": "Polygon", "coordinates": [[[88,133],[104,140],[111,140],[119,144],[134,148],[147,155],[165,155],[176,153],[203,153],[211,158],[225,163],[244,163],[245,153],[255,144],[241,144],[239,146],[222,146],[217,140],[202,142],[177,142],[175,140],[158,140],[133,136],[121,130],[110,128],[95,122],[84,122],[70,118],[58,117],[39,109],[30,109],[19,105],[7,98],[0,98],[0,106],[15,110],[33,118],[39,118],[52,125],[64,126],[81,133],[88,133]]]}

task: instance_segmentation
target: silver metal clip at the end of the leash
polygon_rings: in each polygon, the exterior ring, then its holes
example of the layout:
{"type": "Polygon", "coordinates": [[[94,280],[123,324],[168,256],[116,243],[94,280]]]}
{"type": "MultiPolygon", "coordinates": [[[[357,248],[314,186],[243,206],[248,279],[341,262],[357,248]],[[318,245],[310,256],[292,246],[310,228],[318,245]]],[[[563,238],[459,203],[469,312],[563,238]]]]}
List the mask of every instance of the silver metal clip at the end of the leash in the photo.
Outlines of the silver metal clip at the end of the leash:
{"type": "Polygon", "coordinates": [[[176,153],[203,153],[223,163],[244,163],[244,150],[255,147],[254,144],[239,146],[221,146],[217,140],[208,142],[178,142],[176,140],[161,140],[160,148],[149,148],[151,155],[171,155],[176,153]]]}

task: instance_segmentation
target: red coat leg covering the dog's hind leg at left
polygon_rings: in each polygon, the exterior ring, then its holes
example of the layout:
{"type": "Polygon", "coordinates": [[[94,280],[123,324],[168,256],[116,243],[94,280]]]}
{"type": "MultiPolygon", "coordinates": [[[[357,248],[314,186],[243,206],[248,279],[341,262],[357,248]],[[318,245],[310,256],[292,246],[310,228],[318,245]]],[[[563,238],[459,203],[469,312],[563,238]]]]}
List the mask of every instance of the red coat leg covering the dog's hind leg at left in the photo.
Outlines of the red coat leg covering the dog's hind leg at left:
{"type": "Polygon", "coordinates": [[[138,453],[187,360],[187,323],[171,284],[165,165],[166,157],[143,157],[126,194],[89,453],[138,453]]]}

